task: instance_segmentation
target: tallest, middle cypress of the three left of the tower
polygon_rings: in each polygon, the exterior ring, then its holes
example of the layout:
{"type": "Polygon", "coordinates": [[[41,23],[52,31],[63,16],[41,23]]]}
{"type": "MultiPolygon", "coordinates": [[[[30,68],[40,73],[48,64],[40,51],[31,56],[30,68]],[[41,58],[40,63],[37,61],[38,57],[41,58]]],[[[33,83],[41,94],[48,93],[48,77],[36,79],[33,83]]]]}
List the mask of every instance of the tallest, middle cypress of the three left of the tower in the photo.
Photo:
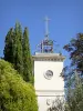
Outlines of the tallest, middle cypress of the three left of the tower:
{"type": "Polygon", "coordinates": [[[13,39],[13,61],[14,69],[22,75],[23,60],[22,60],[22,29],[20,23],[15,23],[14,39],[13,39]]]}

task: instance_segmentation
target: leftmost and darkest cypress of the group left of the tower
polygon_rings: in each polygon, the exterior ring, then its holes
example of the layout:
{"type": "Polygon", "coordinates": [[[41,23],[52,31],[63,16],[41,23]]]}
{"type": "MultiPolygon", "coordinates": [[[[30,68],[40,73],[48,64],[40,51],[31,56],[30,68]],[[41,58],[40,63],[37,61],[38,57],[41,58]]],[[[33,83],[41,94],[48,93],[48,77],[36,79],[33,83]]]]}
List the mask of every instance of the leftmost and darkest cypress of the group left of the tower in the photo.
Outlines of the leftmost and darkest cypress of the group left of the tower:
{"type": "Polygon", "coordinates": [[[4,60],[13,63],[13,28],[8,31],[4,42],[4,60]]]}

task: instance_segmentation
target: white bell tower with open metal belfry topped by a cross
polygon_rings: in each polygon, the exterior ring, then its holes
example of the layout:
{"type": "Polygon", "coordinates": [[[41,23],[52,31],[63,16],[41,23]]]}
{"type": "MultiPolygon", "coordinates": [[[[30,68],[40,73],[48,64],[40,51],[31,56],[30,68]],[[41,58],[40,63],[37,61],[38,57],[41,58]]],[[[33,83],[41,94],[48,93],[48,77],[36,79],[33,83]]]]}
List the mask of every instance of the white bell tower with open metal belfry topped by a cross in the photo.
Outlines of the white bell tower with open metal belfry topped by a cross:
{"type": "Polygon", "coordinates": [[[54,52],[54,42],[49,39],[48,18],[45,18],[45,37],[33,56],[34,88],[39,111],[49,111],[56,97],[64,95],[64,81],[60,77],[65,57],[54,52]]]}

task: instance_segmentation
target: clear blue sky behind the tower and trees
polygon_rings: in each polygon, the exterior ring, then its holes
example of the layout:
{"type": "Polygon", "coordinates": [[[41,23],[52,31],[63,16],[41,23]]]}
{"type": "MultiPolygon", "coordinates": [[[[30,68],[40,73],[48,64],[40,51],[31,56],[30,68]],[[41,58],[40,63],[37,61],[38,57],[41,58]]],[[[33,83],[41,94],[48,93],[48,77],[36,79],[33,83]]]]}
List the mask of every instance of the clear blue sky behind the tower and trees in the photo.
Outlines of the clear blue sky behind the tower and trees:
{"type": "Polygon", "coordinates": [[[33,54],[44,39],[45,16],[50,19],[49,38],[56,41],[60,47],[54,49],[62,51],[65,65],[69,64],[69,53],[63,46],[83,32],[83,0],[0,0],[0,57],[3,57],[6,34],[18,21],[22,29],[29,29],[33,54]]]}

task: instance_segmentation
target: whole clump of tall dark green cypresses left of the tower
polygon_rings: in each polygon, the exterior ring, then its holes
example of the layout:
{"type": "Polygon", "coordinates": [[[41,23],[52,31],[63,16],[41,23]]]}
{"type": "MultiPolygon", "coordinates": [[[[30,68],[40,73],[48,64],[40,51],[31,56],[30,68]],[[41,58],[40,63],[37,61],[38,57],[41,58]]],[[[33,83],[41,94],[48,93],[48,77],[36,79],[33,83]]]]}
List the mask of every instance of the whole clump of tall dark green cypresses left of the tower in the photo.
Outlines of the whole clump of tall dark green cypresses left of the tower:
{"type": "Polygon", "coordinates": [[[14,29],[11,28],[7,33],[4,60],[11,62],[25,81],[33,83],[29,33],[28,29],[24,28],[22,34],[19,22],[15,23],[14,29]]]}

